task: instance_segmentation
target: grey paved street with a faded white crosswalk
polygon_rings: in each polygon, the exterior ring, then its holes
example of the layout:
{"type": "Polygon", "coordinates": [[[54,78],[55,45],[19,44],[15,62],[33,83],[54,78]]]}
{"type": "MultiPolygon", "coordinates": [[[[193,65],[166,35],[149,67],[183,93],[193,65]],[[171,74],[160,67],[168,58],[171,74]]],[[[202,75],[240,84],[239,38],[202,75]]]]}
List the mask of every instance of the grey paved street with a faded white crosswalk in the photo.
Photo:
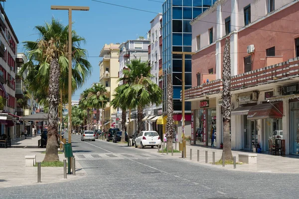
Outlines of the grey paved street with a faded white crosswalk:
{"type": "Polygon", "coordinates": [[[78,180],[0,189],[0,198],[294,199],[299,174],[230,171],[112,142],[81,142],[73,135],[78,180]]]}

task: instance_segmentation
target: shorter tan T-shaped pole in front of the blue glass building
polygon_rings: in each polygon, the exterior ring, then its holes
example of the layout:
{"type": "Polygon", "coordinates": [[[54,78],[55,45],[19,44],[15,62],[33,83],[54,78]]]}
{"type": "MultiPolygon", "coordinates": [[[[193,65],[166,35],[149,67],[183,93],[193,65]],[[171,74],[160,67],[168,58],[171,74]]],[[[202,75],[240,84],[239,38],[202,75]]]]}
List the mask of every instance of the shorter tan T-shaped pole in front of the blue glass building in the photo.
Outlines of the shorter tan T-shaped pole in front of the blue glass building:
{"type": "Polygon", "coordinates": [[[185,141],[185,55],[194,55],[193,52],[175,52],[172,54],[182,55],[182,145],[185,148],[184,157],[186,157],[186,141],[185,141]]]}

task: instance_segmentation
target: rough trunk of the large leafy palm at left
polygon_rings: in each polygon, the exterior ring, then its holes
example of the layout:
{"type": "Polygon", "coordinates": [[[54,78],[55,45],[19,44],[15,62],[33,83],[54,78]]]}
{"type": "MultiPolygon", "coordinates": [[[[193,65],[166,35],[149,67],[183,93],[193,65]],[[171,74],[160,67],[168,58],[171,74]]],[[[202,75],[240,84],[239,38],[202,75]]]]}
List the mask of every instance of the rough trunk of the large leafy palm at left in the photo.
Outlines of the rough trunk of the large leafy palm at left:
{"type": "Polygon", "coordinates": [[[59,104],[59,77],[60,68],[58,59],[52,59],[50,63],[50,78],[49,78],[49,126],[46,155],[43,162],[59,161],[58,157],[58,104],[59,104]]]}

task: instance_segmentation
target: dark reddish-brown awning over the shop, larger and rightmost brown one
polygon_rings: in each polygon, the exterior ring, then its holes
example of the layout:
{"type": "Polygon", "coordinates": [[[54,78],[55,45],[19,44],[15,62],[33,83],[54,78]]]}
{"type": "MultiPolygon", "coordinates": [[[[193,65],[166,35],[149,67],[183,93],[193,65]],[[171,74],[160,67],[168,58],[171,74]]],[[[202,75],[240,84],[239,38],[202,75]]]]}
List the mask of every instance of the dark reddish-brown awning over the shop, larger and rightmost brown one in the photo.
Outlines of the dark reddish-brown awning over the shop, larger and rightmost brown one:
{"type": "Polygon", "coordinates": [[[261,103],[249,110],[247,119],[283,118],[283,102],[261,103]]]}

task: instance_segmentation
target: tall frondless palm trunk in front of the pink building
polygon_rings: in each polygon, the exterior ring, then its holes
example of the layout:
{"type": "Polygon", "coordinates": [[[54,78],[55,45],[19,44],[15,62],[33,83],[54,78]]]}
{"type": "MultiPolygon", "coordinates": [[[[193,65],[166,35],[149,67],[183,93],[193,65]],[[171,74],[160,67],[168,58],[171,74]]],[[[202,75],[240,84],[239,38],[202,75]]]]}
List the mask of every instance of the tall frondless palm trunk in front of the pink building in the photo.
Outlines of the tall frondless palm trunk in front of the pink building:
{"type": "MultiPolygon", "coordinates": [[[[221,112],[223,115],[223,154],[225,161],[233,160],[231,142],[230,142],[230,118],[231,118],[231,60],[230,60],[230,39],[225,40],[223,54],[223,72],[222,72],[222,100],[221,112]]],[[[222,160],[222,157],[221,157],[222,160]]],[[[220,161],[221,161],[220,160],[220,161]]]]}

